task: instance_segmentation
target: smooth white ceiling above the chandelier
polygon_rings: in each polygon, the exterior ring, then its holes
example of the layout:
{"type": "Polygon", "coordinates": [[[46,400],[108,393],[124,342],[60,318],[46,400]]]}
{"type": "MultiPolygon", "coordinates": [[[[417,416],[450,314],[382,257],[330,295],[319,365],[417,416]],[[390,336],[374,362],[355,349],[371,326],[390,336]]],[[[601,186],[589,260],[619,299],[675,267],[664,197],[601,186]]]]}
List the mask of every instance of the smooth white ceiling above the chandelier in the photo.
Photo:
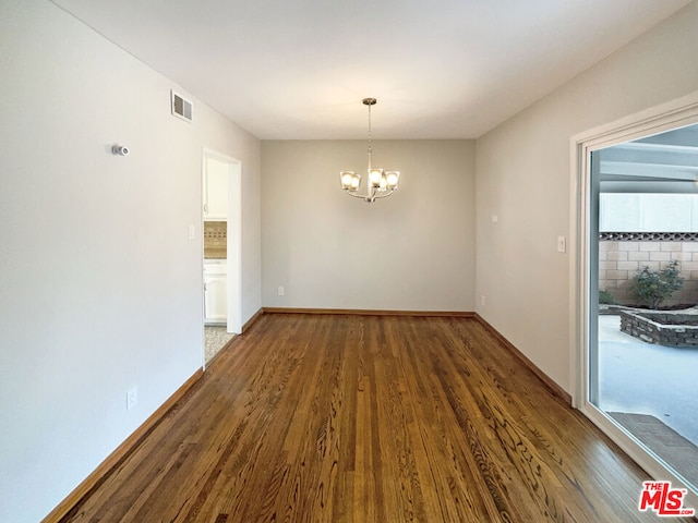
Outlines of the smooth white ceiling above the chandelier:
{"type": "Polygon", "coordinates": [[[53,0],[262,139],[473,138],[690,0],[53,0]]]}

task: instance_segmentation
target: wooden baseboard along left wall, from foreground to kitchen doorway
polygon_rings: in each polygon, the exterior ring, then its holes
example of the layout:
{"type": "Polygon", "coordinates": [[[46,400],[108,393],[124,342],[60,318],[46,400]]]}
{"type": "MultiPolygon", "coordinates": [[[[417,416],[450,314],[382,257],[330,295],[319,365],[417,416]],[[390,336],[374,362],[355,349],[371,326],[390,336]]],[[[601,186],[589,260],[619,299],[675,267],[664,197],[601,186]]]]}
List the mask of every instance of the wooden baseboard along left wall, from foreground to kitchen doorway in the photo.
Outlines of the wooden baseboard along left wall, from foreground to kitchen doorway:
{"type": "Polygon", "coordinates": [[[76,507],[89,492],[97,488],[99,484],[109,475],[109,473],[118,466],[124,459],[129,457],[133,450],[141,443],[153,429],[160,423],[165,415],[174,404],[181,400],[186,392],[196,385],[204,375],[203,369],[196,370],[157,411],[155,411],[131,436],[129,436],[117,449],[103,461],[95,471],[89,474],[75,489],[68,495],[46,518],[41,523],[58,523],[74,507],[76,507]]]}

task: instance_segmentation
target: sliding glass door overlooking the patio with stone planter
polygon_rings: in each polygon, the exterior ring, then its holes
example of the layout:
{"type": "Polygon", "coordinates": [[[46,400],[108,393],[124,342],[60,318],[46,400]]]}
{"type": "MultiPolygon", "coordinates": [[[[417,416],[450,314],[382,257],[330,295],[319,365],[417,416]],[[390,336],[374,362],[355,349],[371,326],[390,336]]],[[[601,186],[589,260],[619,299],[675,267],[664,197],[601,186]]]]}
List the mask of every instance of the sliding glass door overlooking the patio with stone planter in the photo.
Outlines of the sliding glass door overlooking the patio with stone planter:
{"type": "Polygon", "coordinates": [[[586,154],[581,410],[696,500],[698,124],[586,154]]]}

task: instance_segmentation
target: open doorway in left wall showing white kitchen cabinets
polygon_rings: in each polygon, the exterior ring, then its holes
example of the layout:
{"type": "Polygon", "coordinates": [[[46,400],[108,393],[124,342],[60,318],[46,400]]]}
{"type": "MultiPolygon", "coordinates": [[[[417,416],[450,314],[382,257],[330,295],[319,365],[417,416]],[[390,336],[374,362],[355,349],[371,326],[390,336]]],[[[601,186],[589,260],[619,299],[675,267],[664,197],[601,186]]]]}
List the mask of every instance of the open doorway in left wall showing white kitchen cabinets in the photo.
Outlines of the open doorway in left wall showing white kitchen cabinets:
{"type": "Polygon", "coordinates": [[[204,361],[242,331],[242,163],[204,149],[202,159],[204,361]]]}

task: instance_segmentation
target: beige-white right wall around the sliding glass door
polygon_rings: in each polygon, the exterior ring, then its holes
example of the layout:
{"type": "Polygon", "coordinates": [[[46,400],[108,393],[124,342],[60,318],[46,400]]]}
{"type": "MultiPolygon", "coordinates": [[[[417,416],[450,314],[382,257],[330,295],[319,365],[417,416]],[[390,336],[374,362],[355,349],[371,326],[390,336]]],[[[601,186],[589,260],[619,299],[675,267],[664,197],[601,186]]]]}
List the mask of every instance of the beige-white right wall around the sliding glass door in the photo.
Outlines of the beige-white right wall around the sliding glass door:
{"type": "Polygon", "coordinates": [[[570,138],[696,90],[697,28],[694,2],[477,141],[478,312],[569,392],[570,138]]]}

